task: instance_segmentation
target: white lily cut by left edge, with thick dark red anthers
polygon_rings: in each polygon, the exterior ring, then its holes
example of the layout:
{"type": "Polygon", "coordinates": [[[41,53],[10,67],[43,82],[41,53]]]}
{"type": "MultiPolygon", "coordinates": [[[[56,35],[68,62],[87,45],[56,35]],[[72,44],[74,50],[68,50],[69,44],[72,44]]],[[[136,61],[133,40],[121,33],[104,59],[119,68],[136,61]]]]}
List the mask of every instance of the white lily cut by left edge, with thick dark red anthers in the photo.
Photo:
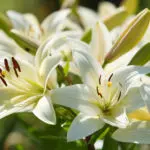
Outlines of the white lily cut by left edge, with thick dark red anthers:
{"type": "MultiPolygon", "coordinates": [[[[43,45],[41,45],[43,47],[43,45]]],[[[53,72],[61,54],[46,57],[37,65],[12,56],[0,57],[0,118],[17,112],[33,112],[48,124],[56,123],[50,92],[53,72]]]]}

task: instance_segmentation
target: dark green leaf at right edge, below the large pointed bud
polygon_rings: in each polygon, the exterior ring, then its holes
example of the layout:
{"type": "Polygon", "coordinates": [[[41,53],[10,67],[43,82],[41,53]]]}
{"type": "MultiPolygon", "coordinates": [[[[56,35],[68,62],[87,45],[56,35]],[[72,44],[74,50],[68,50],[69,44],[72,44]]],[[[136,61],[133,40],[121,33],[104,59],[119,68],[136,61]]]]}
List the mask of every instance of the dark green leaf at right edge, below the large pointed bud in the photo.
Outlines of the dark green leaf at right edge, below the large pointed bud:
{"type": "Polygon", "coordinates": [[[150,60],[150,43],[144,45],[132,58],[129,65],[142,66],[150,60]]]}

